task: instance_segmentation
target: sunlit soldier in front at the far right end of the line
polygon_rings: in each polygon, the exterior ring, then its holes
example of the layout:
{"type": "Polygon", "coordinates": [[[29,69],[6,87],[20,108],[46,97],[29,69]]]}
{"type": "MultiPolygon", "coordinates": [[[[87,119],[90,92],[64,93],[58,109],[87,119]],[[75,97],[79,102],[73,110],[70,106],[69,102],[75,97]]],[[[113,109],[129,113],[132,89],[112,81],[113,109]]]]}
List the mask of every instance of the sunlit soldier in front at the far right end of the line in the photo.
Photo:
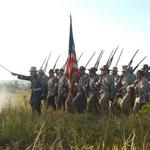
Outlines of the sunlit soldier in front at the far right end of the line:
{"type": "Polygon", "coordinates": [[[148,101],[149,84],[144,76],[143,70],[137,71],[137,80],[134,83],[136,99],[134,103],[134,112],[138,113],[142,106],[148,101]]]}

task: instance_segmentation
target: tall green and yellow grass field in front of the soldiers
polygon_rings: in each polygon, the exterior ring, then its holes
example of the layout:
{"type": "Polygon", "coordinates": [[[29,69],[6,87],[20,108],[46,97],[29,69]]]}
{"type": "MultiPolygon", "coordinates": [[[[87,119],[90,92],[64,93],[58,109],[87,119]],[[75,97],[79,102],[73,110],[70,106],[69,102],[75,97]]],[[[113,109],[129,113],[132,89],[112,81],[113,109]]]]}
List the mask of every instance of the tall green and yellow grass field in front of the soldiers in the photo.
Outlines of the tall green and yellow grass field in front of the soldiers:
{"type": "Polygon", "coordinates": [[[0,149],[149,150],[150,105],[138,115],[69,114],[45,110],[31,117],[29,93],[15,93],[0,113],[0,149]]]}

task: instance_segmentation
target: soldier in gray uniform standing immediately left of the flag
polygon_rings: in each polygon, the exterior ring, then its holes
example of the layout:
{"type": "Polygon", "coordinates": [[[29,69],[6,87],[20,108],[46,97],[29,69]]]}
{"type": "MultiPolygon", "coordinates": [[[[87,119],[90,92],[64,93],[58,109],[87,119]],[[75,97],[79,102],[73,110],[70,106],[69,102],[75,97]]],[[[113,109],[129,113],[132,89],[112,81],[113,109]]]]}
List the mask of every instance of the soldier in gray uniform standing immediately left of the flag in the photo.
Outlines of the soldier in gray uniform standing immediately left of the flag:
{"type": "Polygon", "coordinates": [[[60,69],[60,79],[58,81],[58,97],[57,97],[57,108],[65,110],[65,101],[68,96],[68,78],[66,73],[63,73],[64,69],[60,69]]]}

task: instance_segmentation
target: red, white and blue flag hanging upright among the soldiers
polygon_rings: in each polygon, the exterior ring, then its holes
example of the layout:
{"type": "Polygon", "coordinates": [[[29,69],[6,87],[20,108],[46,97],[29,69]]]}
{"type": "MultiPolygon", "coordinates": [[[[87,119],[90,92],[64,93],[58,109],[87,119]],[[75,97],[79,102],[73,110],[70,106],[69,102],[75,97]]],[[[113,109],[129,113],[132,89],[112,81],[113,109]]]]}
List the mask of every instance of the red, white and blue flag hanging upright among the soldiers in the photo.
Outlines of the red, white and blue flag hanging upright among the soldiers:
{"type": "Polygon", "coordinates": [[[69,52],[68,58],[66,61],[66,73],[68,76],[69,81],[72,81],[73,76],[78,78],[78,64],[76,59],[76,52],[75,52],[75,44],[73,39],[73,32],[72,32],[72,18],[70,15],[70,33],[69,33],[69,52]]]}

